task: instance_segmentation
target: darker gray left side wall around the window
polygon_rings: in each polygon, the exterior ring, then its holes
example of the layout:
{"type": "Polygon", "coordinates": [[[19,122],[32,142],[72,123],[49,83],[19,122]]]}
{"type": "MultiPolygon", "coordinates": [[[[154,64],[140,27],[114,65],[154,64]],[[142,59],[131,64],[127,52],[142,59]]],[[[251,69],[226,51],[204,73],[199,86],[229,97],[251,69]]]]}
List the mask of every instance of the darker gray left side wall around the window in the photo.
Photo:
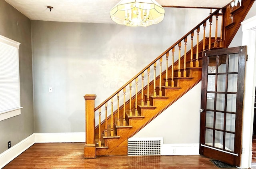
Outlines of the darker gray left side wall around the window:
{"type": "Polygon", "coordinates": [[[0,0],[0,35],[20,42],[21,115],[0,121],[0,153],[34,133],[32,51],[30,19],[0,0]],[[17,25],[18,22],[18,25],[17,25]]]}

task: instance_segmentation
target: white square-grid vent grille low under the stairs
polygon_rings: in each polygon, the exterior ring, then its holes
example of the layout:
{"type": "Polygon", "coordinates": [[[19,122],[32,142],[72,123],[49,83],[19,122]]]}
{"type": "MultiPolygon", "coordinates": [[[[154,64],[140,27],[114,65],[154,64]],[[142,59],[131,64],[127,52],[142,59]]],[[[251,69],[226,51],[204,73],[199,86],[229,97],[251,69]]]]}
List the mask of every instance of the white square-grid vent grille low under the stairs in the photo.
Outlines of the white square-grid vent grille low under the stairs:
{"type": "Polygon", "coordinates": [[[163,137],[128,139],[128,156],[161,155],[163,137]]]}

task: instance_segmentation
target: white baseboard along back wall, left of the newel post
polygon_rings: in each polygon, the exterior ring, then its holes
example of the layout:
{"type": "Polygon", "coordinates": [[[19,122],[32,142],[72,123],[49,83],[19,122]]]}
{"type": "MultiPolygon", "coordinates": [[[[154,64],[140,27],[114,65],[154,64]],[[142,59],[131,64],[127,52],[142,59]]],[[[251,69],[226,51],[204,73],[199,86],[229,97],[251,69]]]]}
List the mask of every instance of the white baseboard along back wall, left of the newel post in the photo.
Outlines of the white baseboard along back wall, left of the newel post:
{"type": "Polygon", "coordinates": [[[35,143],[85,142],[85,133],[35,133],[35,143]]]}

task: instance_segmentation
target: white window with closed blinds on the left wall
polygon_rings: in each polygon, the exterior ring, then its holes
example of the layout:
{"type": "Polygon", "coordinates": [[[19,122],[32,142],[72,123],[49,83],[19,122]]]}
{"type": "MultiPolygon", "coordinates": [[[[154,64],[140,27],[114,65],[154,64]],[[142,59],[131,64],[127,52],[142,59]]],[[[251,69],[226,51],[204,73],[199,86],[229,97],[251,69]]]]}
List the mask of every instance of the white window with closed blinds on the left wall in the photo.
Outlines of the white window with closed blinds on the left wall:
{"type": "Polygon", "coordinates": [[[20,115],[20,43],[0,35],[0,121],[20,115]]]}

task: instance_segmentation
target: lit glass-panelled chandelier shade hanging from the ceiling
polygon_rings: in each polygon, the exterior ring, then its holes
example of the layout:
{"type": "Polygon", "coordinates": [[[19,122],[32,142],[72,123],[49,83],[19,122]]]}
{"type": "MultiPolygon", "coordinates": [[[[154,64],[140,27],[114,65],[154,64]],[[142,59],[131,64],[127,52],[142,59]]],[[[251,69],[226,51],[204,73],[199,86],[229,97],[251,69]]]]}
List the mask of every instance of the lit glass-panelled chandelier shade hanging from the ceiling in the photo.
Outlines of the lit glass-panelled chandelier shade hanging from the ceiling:
{"type": "Polygon", "coordinates": [[[110,18],[126,26],[150,26],[164,19],[164,8],[155,0],[121,0],[110,10],[110,18]]]}

